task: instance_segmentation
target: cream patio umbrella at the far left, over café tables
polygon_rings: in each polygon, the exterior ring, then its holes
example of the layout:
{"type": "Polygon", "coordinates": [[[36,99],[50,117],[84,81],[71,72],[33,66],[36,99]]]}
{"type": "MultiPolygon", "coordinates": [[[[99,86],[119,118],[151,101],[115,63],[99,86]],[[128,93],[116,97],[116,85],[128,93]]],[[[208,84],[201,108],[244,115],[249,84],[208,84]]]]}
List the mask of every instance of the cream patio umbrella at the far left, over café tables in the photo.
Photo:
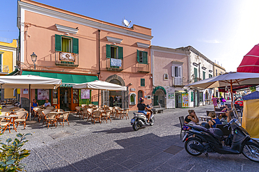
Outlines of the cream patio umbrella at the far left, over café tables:
{"type": "MultiPolygon", "coordinates": [[[[11,75],[0,77],[1,88],[29,88],[29,103],[31,103],[31,88],[55,89],[61,84],[61,79],[52,79],[34,75],[11,75]]],[[[31,105],[29,106],[29,120],[31,120],[31,105]]]]}

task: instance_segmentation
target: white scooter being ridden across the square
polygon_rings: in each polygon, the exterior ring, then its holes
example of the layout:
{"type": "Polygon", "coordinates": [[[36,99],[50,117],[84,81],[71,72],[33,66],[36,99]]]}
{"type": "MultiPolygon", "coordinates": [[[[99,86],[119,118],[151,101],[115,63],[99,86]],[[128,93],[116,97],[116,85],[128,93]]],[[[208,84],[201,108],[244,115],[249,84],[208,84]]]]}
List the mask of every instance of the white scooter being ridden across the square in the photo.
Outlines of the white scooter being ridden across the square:
{"type": "MultiPolygon", "coordinates": [[[[150,108],[149,106],[147,106],[148,108],[150,108]]],[[[154,125],[155,123],[155,116],[153,115],[153,111],[151,110],[151,118],[148,121],[148,118],[146,118],[145,114],[142,113],[133,113],[134,117],[131,120],[131,125],[134,131],[139,130],[140,127],[146,126],[146,125],[154,125]]]]}

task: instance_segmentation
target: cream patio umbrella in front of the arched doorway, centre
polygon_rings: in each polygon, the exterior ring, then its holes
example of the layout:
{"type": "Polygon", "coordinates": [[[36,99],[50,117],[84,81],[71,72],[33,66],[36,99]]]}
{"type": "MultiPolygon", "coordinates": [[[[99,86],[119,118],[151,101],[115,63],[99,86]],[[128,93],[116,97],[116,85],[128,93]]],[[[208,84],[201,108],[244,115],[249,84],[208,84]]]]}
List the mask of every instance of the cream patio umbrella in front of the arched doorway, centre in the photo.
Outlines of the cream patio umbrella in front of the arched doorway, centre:
{"type": "MultiPolygon", "coordinates": [[[[112,84],[106,81],[91,81],[83,84],[74,84],[73,88],[77,89],[90,89],[90,90],[104,90],[104,91],[127,91],[127,86],[120,86],[118,84],[112,84]]],[[[99,92],[98,92],[99,94],[99,92]]],[[[99,107],[99,95],[98,95],[98,107],[99,107]]]]}

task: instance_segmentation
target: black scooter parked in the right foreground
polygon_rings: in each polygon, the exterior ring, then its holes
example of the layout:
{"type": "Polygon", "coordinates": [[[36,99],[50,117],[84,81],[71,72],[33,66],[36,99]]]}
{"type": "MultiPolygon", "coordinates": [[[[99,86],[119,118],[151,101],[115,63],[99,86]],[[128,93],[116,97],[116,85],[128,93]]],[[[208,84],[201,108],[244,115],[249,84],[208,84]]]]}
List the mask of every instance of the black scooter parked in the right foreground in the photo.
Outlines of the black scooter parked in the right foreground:
{"type": "Polygon", "coordinates": [[[187,125],[190,127],[183,137],[186,152],[193,156],[202,153],[209,157],[208,153],[219,154],[243,154],[248,159],[259,162],[259,143],[251,139],[246,130],[238,125],[237,119],[232,119],[225,127],[231,127],[233,138],[231,147],[223,146],[223,132],[218,128],[207,129],[199,125],[187,125]]]}

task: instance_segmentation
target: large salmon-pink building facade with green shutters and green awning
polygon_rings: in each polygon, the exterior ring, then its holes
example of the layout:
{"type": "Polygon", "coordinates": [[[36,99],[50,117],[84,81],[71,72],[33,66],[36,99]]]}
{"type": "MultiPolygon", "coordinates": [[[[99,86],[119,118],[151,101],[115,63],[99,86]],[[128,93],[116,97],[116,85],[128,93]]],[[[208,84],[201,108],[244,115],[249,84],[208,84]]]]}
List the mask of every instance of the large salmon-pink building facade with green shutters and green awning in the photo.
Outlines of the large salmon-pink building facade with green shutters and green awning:
{"type": "MultiPolygon", "coordinates": [[[[151,103],[151,29],[118,26],[29,0],[18,1],[18,28],[20,75],[59,78],[63,83],[57,90],[32,91],[31,100],[43,104],[49,99],[69,110],[98,104],[98,100],[130,110],[137,110],[138,97],[151,103]],[[128,91],[100,91],[98,95],[98,91],[71,88],[96,79],[127,86],[128,91]]],[[[29,96],[21,92],[25,103],[29,96]]]]}

